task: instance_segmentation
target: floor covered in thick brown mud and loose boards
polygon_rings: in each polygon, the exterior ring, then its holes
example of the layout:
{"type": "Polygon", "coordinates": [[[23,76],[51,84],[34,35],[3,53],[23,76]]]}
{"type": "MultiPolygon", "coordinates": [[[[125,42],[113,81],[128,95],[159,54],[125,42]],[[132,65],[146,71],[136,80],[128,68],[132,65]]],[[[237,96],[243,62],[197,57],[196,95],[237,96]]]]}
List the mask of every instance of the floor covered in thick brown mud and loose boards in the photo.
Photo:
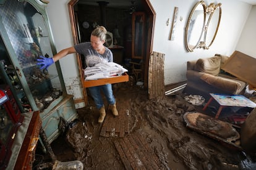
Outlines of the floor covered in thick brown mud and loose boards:
{"type": "Polygon", "coordinates": [[[184,94],[148,100],[141,86],[119,83],[113,89],[121,118],[107,110],[109,119],[98,124],[90,98],[90,106],[77,110],[79,121],[53,142],[58,160],[80,160],[84,169],[255,168],[244,152],[186,127],[183,115],[200,107],[187,103],[184,94]],[[109,125],[113,119],[115,125],[109,125]],[[118,125],[122,121],[126,131],[118,125]],[[113,132],[104,136],[105,125],[113,132]]]}

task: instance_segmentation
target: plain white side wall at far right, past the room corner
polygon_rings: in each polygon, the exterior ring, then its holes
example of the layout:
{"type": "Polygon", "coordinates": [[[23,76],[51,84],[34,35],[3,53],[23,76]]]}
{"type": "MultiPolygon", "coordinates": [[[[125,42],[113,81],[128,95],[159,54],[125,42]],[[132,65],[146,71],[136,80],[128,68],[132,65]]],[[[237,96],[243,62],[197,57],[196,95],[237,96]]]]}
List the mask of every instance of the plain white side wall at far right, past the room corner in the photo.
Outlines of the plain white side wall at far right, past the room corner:
{"type": "Polygon", "coordinates": [[[250,15],[245,23],[244,30],[242,31],[239,42],[236,46],[237,51],[244,52],[247,55],[250,55],[256,58],[256,6],[252,6],[250,15]]]}

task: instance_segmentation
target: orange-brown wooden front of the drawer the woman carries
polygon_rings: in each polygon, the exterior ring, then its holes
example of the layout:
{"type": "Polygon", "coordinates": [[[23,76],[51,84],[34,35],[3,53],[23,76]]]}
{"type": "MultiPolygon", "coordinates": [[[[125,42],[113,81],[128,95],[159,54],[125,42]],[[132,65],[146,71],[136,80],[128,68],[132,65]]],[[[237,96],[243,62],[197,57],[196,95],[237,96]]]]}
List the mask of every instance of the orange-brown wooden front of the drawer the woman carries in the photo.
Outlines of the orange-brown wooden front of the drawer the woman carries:
{"type": "Polygon", "coordinates": [[[113,78],[95,79],[89,81],[83,81],[83,87],[101,86],[104,84],[113,84],[129,81],[129,75],[124,73],[122,76],[116,76],[113,78]]]}

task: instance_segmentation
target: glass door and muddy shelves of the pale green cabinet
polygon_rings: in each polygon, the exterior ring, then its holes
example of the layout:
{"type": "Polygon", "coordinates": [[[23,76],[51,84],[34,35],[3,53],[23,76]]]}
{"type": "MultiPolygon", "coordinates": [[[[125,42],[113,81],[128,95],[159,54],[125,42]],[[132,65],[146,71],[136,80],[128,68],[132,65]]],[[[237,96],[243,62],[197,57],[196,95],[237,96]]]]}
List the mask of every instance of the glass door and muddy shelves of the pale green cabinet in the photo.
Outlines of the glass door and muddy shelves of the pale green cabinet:
{"type": "Polygon", "coordinates": [[[9,0],[0,6],[1,36],[8,46],[12,67],[22,86],[17,91],[23,107],[45,110],[51,102],[62,96],[58,68],[53,64],[40,70],[36,59],[53,57],[49,28],[45,16],[27,1],[9,0]]]}

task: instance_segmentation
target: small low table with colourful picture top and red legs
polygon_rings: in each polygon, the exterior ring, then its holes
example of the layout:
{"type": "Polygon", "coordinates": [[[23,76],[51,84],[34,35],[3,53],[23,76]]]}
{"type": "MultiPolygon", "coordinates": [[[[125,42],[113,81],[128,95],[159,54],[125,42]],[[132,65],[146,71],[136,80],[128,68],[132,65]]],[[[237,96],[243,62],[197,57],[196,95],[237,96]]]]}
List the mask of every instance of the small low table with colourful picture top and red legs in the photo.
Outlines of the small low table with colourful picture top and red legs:
{"type": "Polygon", "coordinates": [[[208,102],[205,104],[205,107],[203,107],[203,110],[206,110],[208,105],[214,100],[218,102],[220,105],[215,118],[218,119],[220,116],[221,110],[224,107],[251,107],[255,108],[256,103],[252,102],[252,100],[246,98],[244,95],[233,95],[233,94],[213,94],[210,93],[211,98],[208,100],[208,102]]]}

